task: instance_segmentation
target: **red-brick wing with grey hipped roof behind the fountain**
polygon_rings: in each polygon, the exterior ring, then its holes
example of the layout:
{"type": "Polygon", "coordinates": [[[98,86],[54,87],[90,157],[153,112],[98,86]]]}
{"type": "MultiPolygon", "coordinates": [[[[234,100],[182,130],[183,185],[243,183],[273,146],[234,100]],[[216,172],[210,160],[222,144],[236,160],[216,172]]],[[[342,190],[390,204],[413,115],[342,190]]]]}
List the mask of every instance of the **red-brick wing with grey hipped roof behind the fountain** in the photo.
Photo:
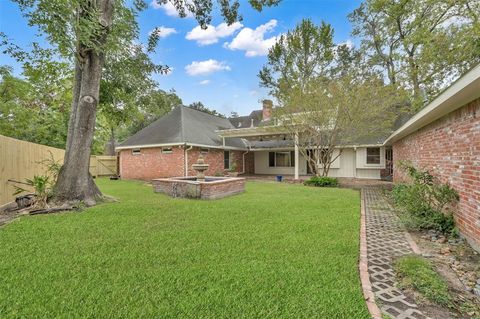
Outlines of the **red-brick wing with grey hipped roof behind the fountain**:
{"type": "Polygon", "coordinates": [[[223,175],[232,168],[252,174],[252,154],[244,141],[224,141],[216,133],[229,128],[233,125],[228,119],[177,106],[116,147],[120,176],[141,180],[192,176],[192,164],[200,154],[210,164],[206,175],[223,175]]]}

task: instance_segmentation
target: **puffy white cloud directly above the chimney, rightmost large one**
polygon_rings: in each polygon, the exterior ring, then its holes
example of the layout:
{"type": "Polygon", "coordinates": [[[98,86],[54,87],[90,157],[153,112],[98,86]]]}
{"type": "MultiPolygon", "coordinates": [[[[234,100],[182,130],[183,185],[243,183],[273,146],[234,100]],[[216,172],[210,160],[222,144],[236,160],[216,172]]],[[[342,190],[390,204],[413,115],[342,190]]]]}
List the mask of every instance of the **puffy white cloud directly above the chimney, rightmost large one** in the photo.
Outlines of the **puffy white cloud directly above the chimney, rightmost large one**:
{"type": "Polygon", "coordinates": [[[243,28],[232,42],[225,42],[224,47],[230,50],[244,50],[247,57],[267,55],[268,49],[275,44],[277,37],[265,39],[265,34],[271,32],[276,26],[277,20],[272,19],[255,30],[243,28]]]}

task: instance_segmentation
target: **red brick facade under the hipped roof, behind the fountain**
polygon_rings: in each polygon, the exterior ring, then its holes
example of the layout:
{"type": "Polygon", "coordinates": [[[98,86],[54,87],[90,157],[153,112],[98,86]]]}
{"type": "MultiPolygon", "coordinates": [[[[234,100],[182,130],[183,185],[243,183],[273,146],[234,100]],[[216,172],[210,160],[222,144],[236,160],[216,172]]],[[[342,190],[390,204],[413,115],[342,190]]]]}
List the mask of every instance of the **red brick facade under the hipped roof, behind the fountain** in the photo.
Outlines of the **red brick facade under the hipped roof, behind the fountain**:
{"type": "MultiPolygon", "coordinates": [[[[224,154],[221,149],[208,149],[203,157],[205,163],[210,167],[206,175],[214,176],[224,174],[224,154]]],[[[237,164],[236,171],[243,171],[244,151],[230,151],[230,161],[237,164]]],[[[133,154],[132,150],[122,150],[120,156],[120,177],[123,179],[152,180],[162,177],[175,177],[185,175],[185,150],[183,146],[172,147],[171,154],[162,153],[161,148],[142,148],[140,154],[133,154]]],[[[193,147],[187,152],[188,175],[194,176],[196,172],[192,169],[198,157],[200,148],[193,147]]],[[[245,155],[245,172],[253,174],[253,153],[245,155]],[[251,155],[250,155],[251,154],[251,155]]]]}

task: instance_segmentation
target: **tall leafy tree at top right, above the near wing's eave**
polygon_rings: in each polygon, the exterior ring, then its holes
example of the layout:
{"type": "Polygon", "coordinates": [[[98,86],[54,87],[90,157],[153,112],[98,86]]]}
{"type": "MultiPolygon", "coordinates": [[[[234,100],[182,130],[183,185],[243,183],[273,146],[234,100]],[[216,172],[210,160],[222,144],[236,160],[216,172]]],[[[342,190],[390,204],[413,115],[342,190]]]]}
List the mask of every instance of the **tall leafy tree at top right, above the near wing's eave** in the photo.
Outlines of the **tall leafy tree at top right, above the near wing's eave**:
{"type": "Polygon", "coordinates": [[[411,92],[418,110],[480,62],[478,0],[367,0],[349,15],[368,66],[411,92]]]}

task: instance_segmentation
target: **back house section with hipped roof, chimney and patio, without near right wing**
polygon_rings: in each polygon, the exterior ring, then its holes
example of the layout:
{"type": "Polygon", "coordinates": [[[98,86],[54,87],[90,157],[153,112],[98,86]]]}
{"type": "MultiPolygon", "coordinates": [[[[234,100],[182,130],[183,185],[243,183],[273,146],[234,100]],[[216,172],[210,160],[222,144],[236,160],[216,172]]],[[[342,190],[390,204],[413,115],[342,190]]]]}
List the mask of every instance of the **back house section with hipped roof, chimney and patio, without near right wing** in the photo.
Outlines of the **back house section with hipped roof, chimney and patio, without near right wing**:
{"type": "MultiPolygon", "coordinates": [[[[230,119],[178,106],[164,117],[131,136],[116,148],[120,176],[151,180],[159,177],[194,175],[191,169],[200,153],[210,164],[207,175],[235,169],[241,174],[310,175],[303,158],[288,134],[272,121],[273,103],[263,101],[262,110],[230,119]],[[235,163],[235,164],[234,164],[235,163]]],[[[339,147],[329,175],[380,179],[391,175],[386,163],[390,148],[385,138],[359,141],[339,147]]]]}

